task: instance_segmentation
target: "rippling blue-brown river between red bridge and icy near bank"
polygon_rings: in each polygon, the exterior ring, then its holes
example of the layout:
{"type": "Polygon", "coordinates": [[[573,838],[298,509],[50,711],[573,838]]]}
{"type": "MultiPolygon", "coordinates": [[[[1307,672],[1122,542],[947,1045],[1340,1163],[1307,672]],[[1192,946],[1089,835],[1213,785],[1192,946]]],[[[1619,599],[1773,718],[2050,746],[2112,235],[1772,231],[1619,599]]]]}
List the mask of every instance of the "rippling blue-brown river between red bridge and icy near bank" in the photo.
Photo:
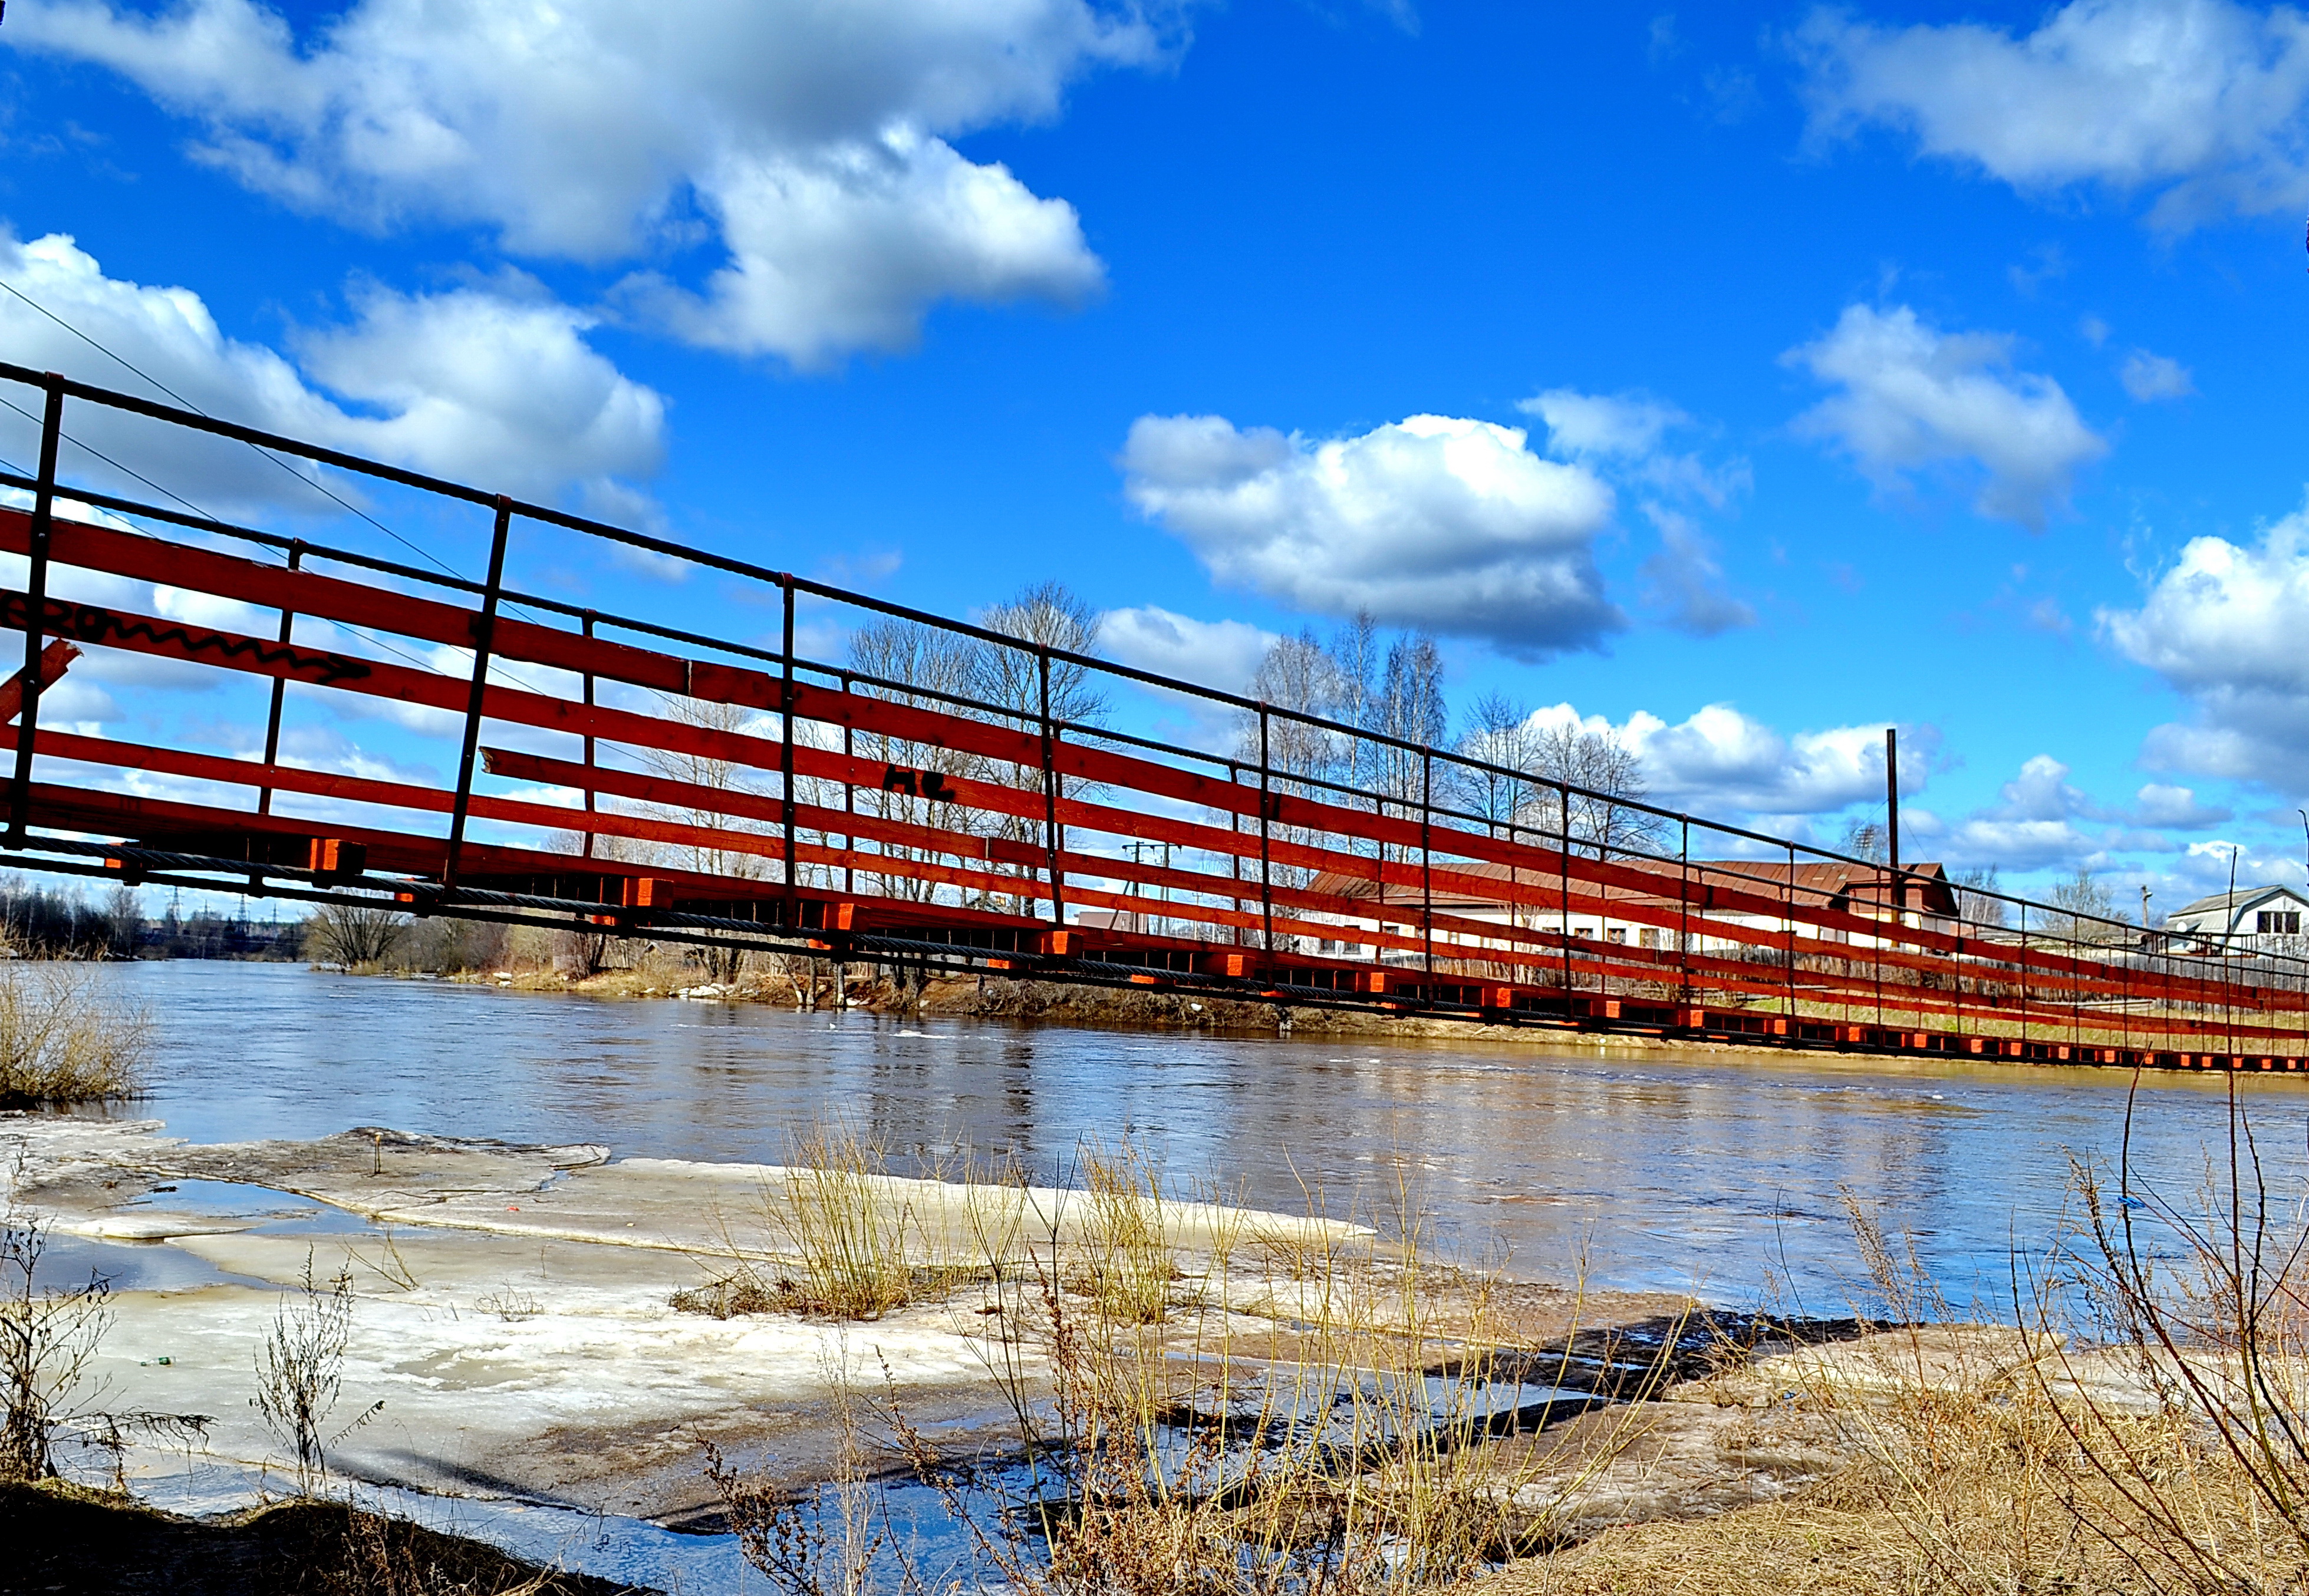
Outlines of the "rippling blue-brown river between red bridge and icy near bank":
{"type": "MultiPolygon", "coordinates": [[[[2011,1296],[2069,1157],[2115,1159],[2131,1076],[2108,1069],[1600,1051],[1494,1042],[1101,1032],[589,1000],[293,965],[139,963],[104,979],[157,1023],[150,1095],[102,1113],[194,1141],[353,1125],[600,1141],[619,1155],[776,1162],[827,1118],[907,1169],[963,1153],[1067,1176],[1131,1141],[1185,1189],[1263,1208],[1432,1215],[1443,1247],[1526,1280],[1697,1289],[1836,1312],[1856,1266],[1840,1192],[1914,1231],[1958,1303],[2011,1296]]],[[[2226,1081],[2152,1076],[2134,1162],[2173,1194],[2226,1162],[2226,1081]]],[[[2277,1189],[2309,1176],[2309,1083],[2240,1086],[2277,1189]]]]}

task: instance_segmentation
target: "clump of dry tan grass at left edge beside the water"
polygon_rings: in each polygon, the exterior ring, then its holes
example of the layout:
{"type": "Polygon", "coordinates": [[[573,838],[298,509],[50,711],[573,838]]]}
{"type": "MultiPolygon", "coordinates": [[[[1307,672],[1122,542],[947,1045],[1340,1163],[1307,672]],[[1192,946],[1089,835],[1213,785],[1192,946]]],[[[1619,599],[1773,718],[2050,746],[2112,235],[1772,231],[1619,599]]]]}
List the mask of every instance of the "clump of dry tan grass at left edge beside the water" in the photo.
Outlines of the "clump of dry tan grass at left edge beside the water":
{"type": "Polygon", "coordinates": [[[150,1016],[85,963],[0,968],[0,1109],[134,1097],[152,1049],[150,1016]]]}

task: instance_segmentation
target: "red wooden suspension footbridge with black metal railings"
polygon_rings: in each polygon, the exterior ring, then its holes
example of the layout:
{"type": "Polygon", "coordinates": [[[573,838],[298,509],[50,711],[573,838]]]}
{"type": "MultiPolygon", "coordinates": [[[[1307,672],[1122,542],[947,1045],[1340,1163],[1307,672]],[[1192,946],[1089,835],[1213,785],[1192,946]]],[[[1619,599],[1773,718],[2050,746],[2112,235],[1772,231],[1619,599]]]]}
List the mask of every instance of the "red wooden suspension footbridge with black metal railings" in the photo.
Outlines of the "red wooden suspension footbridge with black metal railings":
{"type": "MultiPolygon", "coordinates": [[[[0,471],[28,499],[0,510],[0,624],[25,640],[0,688],[0,862],[18,868],[1499,1026],[2177,1069],[2309,1056],[2302,959],[1958,892],[1937,866],[1584,792],[53,374],[0,365],[5,388],[42,420],[37,469],[0,471]],[[83,416],[141,446],[67,483],[83,416]],[[162,473],[185,439],[471,517],[487,570],[85,485],[162,473]],[[757,596],[778,633],[524,591],[517,536],[674,561],[757,596]],[[831,617],[889,647],[806,658],[797,605],[806,635],[831,617]],[[44,723],[44,693],[104,661],[118,693],[222,681],[242,709],[104,723],[175,725],[148,741],[44,723]],[[1069,718],[1104,698],[1085,684],[1191,700],[1238,734],[1203,751],[1069,718]],[[455,781],[289,758],[291,704],[395,716],[455,781]]],[[[660,589],[683,594],[628,584],[660,589]]]]}

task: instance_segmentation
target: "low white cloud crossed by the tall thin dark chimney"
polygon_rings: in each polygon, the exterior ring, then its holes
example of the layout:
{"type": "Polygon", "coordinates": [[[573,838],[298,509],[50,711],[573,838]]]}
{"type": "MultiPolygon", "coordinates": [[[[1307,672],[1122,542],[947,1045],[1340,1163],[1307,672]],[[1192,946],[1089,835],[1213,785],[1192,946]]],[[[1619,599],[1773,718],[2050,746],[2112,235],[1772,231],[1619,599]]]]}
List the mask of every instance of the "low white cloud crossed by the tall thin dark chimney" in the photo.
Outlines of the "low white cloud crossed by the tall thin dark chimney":
{"type": "MultiPolygon", "coordinates": [[[[1538,709],[1531,721],[1616,734],[1644,762],[1653,801],[1692,813],[1792,818],[1884,801],[1882,725],[1787,734],[1732,704],[1709,704],[1676,725],[1644,709],[1612,725],[1570,704],[1538,709]]],[[[1923,792],[1937,748],[1935,728],[1900,730],[1903,792],[1923,792]]]]}

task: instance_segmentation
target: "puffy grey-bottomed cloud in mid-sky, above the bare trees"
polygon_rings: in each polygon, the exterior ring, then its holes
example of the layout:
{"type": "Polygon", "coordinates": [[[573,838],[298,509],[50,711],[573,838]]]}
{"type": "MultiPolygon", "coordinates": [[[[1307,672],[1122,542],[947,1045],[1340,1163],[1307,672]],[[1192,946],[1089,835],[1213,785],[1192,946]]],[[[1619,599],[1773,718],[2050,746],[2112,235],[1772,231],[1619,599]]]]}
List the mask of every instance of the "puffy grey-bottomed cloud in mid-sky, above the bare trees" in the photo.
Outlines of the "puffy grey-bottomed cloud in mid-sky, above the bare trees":
{"type": "Polygon", "coordinates": [[[1411,416],[1318,443],[1224,416],[1141,416],[1124,492],[1219,582],[1302,610],[1367,607],[1526,656],[1596,647],[1626,624],[1593,554],[1612,490],[1524,437],[1411,416]]]}

